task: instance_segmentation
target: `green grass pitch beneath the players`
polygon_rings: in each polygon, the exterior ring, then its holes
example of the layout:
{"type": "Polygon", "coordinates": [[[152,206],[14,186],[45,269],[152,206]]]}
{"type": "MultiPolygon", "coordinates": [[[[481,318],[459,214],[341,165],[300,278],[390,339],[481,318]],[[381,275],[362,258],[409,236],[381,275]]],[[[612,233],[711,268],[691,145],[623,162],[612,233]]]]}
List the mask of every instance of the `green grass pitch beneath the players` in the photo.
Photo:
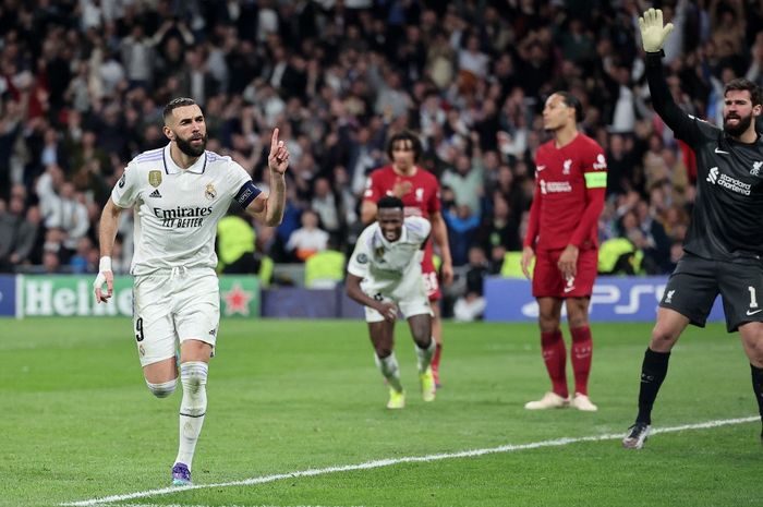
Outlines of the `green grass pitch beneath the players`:
{"type": "MultiPolygon", "coordinates": [[[[529,412],[524,402],[548,389],[534,325],[447,323],[444,387],[424,403],[401,324],[408,406],[392,412],[364,323],[223,319],[193,470],[195,484],[219,485],[158,494],[150,492],[168,486],[177,451],[180,393],[160,400],[145,388],[130,322],[0,321],[0,507],[97,505],[112,495],[121,499],[104,505],[763,505],[756,421],[655,434],[641,451],[614,437],[544,444],[625,432],[650,329],[593,325],[598,412],[529,412]],[[534,443],[543,445],[521,447],[534,443]],[[520,447],[448,456],[506,445],[520,447]],[[446,456],[235,484],[438,454],[446,456]],[[121,497],[134,493],[147,494],[121,497]]],[[[719,325],[688,329],[655,427],[756,413],[738,336],[719,325]]]]}

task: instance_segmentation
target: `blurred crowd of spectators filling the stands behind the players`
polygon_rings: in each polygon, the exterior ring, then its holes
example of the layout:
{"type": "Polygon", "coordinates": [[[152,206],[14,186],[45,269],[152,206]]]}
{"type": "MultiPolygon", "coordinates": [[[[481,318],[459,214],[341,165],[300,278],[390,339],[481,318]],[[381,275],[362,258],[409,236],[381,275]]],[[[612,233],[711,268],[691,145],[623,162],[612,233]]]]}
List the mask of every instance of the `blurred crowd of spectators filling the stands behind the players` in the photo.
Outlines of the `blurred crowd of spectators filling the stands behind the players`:
{"type": "MultiPolygon", "coordinates": [[[[674,97],[719,123],[723,83],[763,83],[763,1],[654,3],[676,26],[664,59],[674,97]]],[[[167,143],[161,108],[187,96],[205,111],[207,148],[264,189],[268,140],[281,129],[292,160],[286,217],[252,229],[255,245],[243,248],[275,263],[347,252],[390,132],[420,133],[453,263],[479,295],[482,276],[510,274],[507,253],[521,250],[533,157],[548,138],[540,112],[568,89],[607,154],[601,241],[618,246],[603,246],[601,270],[669,273],[695,167],[650,106],[637,20],[652,4],[2,0],[0,271],[97,271],[112,185],[132,157],[167,143]]],[[[122,216],[114,269],[125,273],[132,217],[122,216]]]]}

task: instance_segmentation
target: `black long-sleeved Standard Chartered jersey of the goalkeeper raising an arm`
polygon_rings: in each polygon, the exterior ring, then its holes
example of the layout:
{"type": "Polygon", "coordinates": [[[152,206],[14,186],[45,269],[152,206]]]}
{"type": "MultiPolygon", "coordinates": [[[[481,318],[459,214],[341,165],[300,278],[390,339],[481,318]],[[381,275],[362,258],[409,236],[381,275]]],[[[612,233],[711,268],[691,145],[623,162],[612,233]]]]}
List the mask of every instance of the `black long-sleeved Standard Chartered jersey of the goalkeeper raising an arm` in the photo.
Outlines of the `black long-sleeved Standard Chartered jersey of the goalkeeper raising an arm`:
{"type": "Polygon", "coordinates": [[[646,57],[655,111],[697,155],[697,200],[683,250],[749,263],[763,254],[763,140],[744,144],[683,112],[668,90],[658,53],[646,57]]]}

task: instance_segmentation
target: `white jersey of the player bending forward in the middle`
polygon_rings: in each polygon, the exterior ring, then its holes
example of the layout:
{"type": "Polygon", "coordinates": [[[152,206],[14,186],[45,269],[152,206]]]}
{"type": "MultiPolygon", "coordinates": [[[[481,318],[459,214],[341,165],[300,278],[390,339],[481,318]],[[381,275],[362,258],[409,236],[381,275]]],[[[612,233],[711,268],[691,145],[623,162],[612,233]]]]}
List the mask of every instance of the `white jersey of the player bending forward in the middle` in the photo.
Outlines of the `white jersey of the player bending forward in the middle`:
{"type": "Polygon", "coordinates": [[[358,238],[347,270],[363,278],[366,293],[380,292],[402,295],[423,286],[421,259],[423,244],[432,225],[422,217],[407,217],[400,238],[390,242],[384,238],[378,222],[366,227],[358,238]]]}

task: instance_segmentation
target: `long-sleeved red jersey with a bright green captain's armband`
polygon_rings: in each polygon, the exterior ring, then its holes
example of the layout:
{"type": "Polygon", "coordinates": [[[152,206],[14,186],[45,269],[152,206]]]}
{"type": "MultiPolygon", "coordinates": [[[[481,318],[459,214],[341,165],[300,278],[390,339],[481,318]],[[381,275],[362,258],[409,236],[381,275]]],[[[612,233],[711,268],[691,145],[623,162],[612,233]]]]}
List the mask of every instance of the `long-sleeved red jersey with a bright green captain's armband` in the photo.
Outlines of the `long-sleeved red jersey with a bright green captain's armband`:
{"type": "Polygon", "coordinates": [[[578,134],[561,148],[554,140],[544,143],[535,155],[535,194],[524,245],[596,248],[606,186],[607,161],[594,140],[578,134]]]}

